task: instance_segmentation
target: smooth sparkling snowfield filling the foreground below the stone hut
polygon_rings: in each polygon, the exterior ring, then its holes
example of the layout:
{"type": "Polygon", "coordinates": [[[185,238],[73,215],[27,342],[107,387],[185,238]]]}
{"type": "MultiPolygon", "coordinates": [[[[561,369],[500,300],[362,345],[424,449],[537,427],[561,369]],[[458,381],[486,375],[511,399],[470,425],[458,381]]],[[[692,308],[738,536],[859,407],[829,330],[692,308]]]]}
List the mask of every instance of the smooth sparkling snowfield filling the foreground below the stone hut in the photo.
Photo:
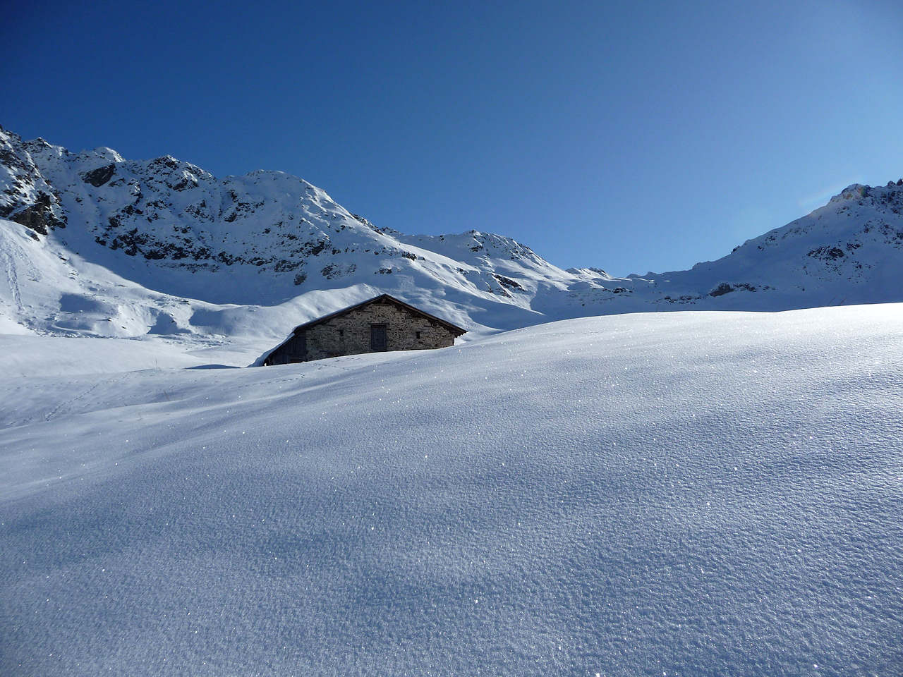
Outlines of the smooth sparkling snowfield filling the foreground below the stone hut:
{"type": "Polygon", "coordinates": [[[0,338],[0,673],[903,672],[901,305],[142,345],[0,338]]]}

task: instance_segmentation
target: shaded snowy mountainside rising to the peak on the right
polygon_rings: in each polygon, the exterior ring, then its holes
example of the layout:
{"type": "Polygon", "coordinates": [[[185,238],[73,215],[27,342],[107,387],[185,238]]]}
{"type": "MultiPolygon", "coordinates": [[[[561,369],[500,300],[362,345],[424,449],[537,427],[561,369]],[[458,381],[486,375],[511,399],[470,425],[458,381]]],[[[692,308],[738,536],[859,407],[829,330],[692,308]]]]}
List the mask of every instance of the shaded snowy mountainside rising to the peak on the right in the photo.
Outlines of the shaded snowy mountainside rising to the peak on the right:
{"type": "Polygon", "coordinates": [[[901,213],[903,180],[877,188],[852,185],[824,207],[718,261],[658,274],[655,281],[668,303],[684,306],[771,311],[900,301],[901,213]]]}

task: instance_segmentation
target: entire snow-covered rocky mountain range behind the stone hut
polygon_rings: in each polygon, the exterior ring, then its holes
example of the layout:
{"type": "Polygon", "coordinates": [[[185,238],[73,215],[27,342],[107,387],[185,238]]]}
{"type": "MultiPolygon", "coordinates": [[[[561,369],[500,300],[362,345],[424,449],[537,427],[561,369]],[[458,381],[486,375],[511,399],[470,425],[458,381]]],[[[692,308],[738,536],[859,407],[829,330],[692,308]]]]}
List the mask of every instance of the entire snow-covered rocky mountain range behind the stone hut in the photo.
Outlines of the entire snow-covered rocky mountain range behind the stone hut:
{"type": "Polygon", "coordinates": [[[853,185],[692,270],[563,270],[478,230],[376,227],[283,172],[70,153],[0,130],[0,327],[265,341],[390,292],[469,329],[628,311],[903,300],[903,182],[853,185]]]}

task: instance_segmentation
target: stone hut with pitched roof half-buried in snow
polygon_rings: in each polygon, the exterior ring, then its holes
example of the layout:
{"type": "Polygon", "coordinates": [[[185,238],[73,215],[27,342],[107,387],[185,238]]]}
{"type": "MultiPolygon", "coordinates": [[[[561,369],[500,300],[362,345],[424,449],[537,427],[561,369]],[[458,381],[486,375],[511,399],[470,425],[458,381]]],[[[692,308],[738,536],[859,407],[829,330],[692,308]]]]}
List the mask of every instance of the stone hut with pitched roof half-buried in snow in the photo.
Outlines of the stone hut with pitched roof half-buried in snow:
{"type": "Polygon", "coordinates": [[[385,350],[448,348],[464,333],[466,329],[381,294],[295,327],[289,338],[257,364],[286,365],[385,350]]]}

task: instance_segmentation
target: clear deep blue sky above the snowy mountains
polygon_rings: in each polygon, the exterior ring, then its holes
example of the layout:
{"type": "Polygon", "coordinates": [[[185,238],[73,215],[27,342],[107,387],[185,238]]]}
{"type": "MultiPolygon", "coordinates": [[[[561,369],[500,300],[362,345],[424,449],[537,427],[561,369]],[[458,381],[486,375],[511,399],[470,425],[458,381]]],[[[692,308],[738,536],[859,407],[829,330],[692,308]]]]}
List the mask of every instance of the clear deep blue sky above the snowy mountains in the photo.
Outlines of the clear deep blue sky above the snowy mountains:
{"type": "Polygon", "coordinates": [[[5,9],[0,124],[563,267],[688,267],[903,176],[891,0],[80,5],[5,9]]]}

